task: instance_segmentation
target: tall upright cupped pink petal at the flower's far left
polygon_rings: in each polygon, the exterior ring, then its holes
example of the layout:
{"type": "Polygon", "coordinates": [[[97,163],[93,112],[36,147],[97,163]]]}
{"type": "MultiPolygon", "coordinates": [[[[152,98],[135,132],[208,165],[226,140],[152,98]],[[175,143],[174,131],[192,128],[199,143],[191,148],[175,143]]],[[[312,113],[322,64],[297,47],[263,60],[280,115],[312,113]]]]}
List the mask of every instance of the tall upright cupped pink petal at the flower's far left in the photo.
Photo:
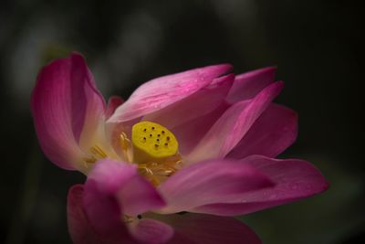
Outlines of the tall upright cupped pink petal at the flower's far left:
{"type": "MultiPolygon", "coordinates": [[[[39,143],[47,157],[65,169],[83,156],[81,132],[92,132],[104,116],[104,101],[84,58],[74,53],[41,70],[31,99],[39,143]]],[[[89,133],[85,132],[85,133],[89,133]]]]}

